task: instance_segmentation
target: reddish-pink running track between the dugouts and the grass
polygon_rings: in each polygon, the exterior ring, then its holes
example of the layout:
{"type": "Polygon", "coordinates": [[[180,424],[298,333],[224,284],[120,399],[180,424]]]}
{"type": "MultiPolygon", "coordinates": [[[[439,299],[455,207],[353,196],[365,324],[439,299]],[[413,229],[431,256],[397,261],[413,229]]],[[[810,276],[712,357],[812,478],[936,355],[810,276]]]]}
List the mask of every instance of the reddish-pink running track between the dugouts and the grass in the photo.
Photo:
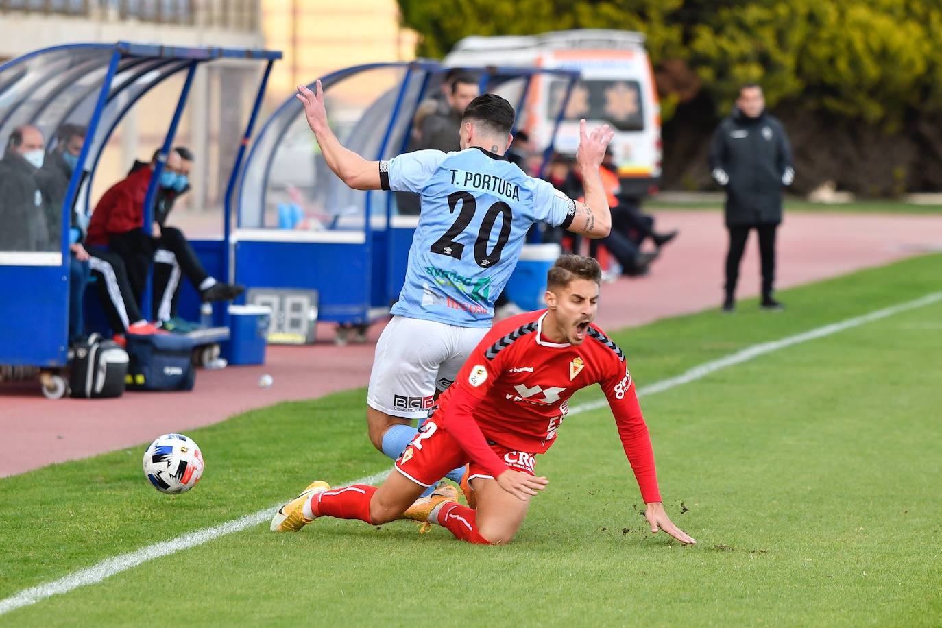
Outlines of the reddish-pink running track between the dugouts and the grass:
{"type": "MultiPolygon", "coordinates": [[[[721,215],[665,210],[657,217],[659,230],[679,229],[681,233],[665,247],[650,275],[603,286],[599,308],[603,329],[718,307],[722,300],[726,235],[721,215]]],[[[779,287],[942,250],[942,216],[794,213],[787,216],[779,233],[779,287]]],[[[747,246],[739,282],[739,297],[757,294],[755,234],[747,246]]],[[[0,476],[143,446],[159,434],[186,432],[279,401],[365,386],[381,330],[382,325],[373,326],[366,345],[334,346],[333,331],[321,326],[320,344],[269,347],[265,366],[200,371],[192,393],[49,401],[40,395],[36,382],[0,383],[0,434],[5,442],[0,449],[0,476]],[[274,383],[262,389],[258,379],[266,373],[274,383]]],[[[363,415],[365,422],[365,410],[363,415]]]]}

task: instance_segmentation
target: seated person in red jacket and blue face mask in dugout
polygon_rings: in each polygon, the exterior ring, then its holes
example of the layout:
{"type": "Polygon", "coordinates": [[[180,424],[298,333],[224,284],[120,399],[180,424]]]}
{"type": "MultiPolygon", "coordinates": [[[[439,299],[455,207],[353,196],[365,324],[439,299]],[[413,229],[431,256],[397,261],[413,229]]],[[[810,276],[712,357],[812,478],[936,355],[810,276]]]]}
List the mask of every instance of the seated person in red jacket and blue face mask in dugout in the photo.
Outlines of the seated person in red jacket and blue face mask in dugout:
{"type": "MultiPolygon", "coordinates": [[[[178,229],[161,228],[154,221],[151,233],[144,233],[144,199],[150,185],[159,150],[154,152],[144,168],[132,169],[130,174],[113,185],[95,207],[89,223],[89,244],[118,253],[127,268],[134,296],[140,303],[147,283],[154,255],[158,250],[170,251],[184,275],[193,283],[203,301],[231,300],[245,290],[244,286],[217,282],[200,263],[187,238],[178,229]]],[[[158,182],[160,195],[176,191],[180,175],[184,172],[183,158],[177,151],[167,155],[164,170],[158,182]]],[[[165,196],[166,198],[166,196],[165,196]]],[[[158,214],[155,213],[155,216],[158,214]]],[[[164,212],[166,217],[166,212],[164,212]]],[[[162,298],[154,299],[159,303],[162,298]]]]}

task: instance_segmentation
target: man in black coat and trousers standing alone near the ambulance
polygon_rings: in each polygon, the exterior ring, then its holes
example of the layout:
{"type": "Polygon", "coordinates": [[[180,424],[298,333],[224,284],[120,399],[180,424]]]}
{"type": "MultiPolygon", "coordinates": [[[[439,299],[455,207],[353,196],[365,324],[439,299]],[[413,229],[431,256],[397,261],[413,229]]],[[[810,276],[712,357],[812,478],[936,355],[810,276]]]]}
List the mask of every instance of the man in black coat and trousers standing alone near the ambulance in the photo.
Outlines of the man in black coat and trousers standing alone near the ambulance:
{"type": "Polygon", "coordinates": [[[726,189],[729,251],[723,311],[735,308],[739,262],[751,229],[758,233],[762,258],[761,307],[784,309],[772,297],[775,232],[782,222],[782,188],[791,185],[795,171],[785,127],[766,112],[762,88],[749,84],[739,89],[732,115],[713,135],[709,162],[713,178],[726,189]]]}

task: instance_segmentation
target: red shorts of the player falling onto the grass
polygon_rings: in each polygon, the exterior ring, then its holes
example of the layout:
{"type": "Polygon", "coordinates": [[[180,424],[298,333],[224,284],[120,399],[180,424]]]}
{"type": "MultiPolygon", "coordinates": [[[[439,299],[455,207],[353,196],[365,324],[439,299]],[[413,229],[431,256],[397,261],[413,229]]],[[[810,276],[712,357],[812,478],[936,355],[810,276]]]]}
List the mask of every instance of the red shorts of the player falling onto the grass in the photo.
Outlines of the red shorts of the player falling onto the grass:
{"type": "MultiPolygon", "coordinates": [[[[534,474],[535,456],[522,451],[514,451],[499,444],[492,444],[491,449],[515,471],[534,474]]],[[[452,469],[469,463],[468,479],[475,477],[493,477],[478,463],[468,459],[467,454],[451,437],[446,429],[438,427],[434,420],[426,421],[412,443],[405,448],[396,460],[396,470],[421,486],[430,487],[452,469]]]]}

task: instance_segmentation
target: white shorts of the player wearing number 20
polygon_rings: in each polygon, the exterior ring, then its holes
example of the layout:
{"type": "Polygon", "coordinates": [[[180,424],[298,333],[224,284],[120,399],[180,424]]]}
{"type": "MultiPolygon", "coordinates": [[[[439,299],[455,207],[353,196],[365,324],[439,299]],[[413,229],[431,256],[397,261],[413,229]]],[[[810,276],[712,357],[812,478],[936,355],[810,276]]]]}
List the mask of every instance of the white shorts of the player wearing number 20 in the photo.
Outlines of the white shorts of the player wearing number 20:
{"type": "Polygon", "coordinates": [[[391,416],[427,417],[435,390],[451,385],[488,331],[393,316],[376,344],[366,403],[391,416]]]}

